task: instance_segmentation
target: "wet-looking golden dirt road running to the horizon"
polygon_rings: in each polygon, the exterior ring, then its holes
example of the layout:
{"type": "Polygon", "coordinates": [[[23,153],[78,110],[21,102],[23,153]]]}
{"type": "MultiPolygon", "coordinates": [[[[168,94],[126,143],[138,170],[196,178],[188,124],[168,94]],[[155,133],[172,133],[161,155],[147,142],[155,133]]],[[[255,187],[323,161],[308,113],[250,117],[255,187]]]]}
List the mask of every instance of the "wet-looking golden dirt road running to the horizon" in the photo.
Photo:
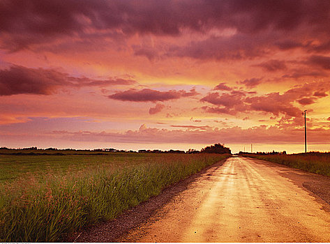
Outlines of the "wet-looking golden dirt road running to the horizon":
{"type": "Polygon", "coordinates": [[[301,187],[305,174],[230,158],[119,241],[329,242],[329,205],[301,187]]]}

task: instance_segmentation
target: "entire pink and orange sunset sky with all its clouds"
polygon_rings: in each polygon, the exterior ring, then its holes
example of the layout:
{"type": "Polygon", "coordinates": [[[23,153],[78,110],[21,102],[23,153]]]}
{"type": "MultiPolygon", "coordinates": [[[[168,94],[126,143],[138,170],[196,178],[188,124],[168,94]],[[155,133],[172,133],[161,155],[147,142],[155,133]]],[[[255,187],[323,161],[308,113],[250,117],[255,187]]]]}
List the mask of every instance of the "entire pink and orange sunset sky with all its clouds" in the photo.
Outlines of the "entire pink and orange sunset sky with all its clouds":
{"type": "Polygon", "coordinates": [[[0,146],[330,151],[330,1],[0,1],[0,146]]]}

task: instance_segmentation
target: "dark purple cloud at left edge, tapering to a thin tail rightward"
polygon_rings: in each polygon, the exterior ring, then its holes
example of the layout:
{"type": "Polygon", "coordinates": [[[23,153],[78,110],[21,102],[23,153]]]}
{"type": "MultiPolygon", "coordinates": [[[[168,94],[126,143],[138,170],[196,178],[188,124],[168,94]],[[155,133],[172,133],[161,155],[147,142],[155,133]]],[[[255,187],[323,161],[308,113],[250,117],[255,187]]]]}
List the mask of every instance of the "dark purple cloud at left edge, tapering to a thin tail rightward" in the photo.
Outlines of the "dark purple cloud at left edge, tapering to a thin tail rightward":
{"type": "Polygon", "coordinates": [[[10,66],[0,70],[0,96],[15,94],[50,95],[63,86],[110,86],[135,84],[133,79],[97,80],[87,77],[72,77],[57,70],[10,66]]]}

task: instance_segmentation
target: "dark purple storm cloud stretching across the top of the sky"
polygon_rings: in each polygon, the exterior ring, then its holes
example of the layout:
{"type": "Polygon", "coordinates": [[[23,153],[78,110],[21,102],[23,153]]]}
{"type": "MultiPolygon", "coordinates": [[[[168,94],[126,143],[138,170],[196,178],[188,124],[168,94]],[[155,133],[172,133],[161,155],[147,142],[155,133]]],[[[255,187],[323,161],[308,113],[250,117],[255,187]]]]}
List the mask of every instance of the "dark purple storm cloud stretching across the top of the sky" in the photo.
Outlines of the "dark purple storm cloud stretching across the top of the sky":
{"type": "MultiPolygon", "coordinates": [[[[329,8],[330,2],[321,0],[84,0],[79,3],[74,0],[4,0],[0,3],[1,45],[15,51],[29,48],[35,43],[47,43],[61,36],[88,36],[89,29],[107,31],[109,35],[151,33],[179,36],[183,29],[206,33],[214,28],[232,28],[246,38],[245,52],[253,35],[262,38],[262,33],[269,30],[283,35],[285,39],[282,42],[278,38],[273,40],[279,43],[279,47],[288,48],[299,46],[294,43],[298,43],[301,35],[327,39],[324,33],[330,29],[329,8]],[[287,37],[290,35],[292,38],[287,37]],[[293,44],[288,45],[285,40],[293,44]]],[[[209,40],[207,43],[212,44],[214,41],[209,40]]],[[[327,43],[329,40],[321,40],[318,48],[326,47],[327,43]]],[[[142,51],[146,50],[140,50],[140,53],[142,51]]],[[[183,55],[182,52],[180,54],[183,55]]],[[[217,57],[223,54],[220,52],[217,57]]],[[[196,53],[193,55],[199,57],[196,53]]],[[[227,54],[232,57],[240,55],[246,54],[227,54]]]]}

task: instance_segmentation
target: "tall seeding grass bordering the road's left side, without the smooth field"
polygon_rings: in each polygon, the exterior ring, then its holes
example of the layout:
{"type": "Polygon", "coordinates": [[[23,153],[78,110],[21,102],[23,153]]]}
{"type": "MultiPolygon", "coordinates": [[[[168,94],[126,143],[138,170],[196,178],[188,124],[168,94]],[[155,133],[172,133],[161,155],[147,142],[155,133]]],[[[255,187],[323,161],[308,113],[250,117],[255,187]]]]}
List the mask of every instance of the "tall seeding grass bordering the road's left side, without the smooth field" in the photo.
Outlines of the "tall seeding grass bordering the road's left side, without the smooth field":
{"type": "Polygon", "coordinates": [[[117,217],[163,188],[229,155],[164,155],[163,160],[113,170],[33,174],[0,185],[0,241],[54,242],[117,217]]]}

